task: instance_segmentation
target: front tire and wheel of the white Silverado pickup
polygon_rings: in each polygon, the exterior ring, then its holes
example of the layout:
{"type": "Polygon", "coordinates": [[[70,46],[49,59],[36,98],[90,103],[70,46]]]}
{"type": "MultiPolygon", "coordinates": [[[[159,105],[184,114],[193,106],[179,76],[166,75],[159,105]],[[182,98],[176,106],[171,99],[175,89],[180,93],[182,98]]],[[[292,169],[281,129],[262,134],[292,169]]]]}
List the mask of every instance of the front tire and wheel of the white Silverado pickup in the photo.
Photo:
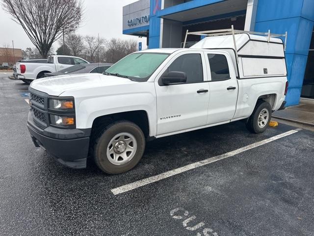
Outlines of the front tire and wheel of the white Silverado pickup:
{"type": "Polygon", "coordinates": [[[96,137],[93,156],[96,165],[111,175],[133,169],[143,156],[143,131],[127,120],[107,125],[96,137]]]}

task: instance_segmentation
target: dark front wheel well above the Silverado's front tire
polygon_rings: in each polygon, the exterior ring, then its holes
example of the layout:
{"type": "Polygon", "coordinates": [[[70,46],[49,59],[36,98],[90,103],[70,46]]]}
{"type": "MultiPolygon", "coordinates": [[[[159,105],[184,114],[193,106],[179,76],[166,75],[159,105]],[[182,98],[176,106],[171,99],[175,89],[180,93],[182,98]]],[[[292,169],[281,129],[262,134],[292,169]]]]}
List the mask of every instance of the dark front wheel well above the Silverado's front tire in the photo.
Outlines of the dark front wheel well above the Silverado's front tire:
{"type": "Polygon", "coordinates": [[[146,111],[131,111],[121,112],[110,115],[105,115],[94,119],[91,134],[97,136],[97,134],[108,124],[117,120],[129,120],[137,124],[144,133],[145,138],[149,137],[149,121],[146,111]]]}

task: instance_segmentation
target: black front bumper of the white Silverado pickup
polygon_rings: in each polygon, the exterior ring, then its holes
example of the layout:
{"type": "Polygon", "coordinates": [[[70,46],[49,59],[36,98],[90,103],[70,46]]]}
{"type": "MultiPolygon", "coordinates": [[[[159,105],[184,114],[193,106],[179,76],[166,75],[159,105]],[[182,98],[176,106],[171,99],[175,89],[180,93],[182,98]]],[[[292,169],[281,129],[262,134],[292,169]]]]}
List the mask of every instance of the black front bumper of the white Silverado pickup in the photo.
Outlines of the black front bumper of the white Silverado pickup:
{"type": "Polygon", "coordinates": [[[31,110],[28,113],[27,128],[34,145],[45,149],[59,163],[75,169],[86,168],[90,129],[41,129],[34,122],[31,110]]]}

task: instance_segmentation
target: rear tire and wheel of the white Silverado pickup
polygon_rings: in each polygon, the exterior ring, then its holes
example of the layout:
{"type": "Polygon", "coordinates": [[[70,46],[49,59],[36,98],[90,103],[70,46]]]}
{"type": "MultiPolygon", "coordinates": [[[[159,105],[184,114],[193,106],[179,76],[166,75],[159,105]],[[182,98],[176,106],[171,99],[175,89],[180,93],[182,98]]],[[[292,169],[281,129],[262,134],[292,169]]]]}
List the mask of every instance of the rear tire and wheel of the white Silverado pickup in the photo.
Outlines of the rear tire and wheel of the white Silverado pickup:
{"type": "Polygon", "coordinates": [[[271,118],[271,106],[268,102],[259,100],[246,123],[246,128],[255,134],[265,131],[271,118]]]}

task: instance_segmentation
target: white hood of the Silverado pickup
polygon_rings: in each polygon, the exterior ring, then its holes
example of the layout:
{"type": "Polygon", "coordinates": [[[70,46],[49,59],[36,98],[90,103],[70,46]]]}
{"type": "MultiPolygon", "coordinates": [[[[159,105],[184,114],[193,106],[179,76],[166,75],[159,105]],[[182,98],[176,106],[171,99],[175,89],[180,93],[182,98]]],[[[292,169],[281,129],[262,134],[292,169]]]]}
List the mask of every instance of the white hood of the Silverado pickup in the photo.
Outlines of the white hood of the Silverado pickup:
{"type": "Polygon", "coordinates": [[[46,77],[34,80],[30,87],[49,95],[59,96],[70,90],[87,89],[93,87],[113,86],[137,83],[126,78],[103,74],[75,74],[46,77]]]}

